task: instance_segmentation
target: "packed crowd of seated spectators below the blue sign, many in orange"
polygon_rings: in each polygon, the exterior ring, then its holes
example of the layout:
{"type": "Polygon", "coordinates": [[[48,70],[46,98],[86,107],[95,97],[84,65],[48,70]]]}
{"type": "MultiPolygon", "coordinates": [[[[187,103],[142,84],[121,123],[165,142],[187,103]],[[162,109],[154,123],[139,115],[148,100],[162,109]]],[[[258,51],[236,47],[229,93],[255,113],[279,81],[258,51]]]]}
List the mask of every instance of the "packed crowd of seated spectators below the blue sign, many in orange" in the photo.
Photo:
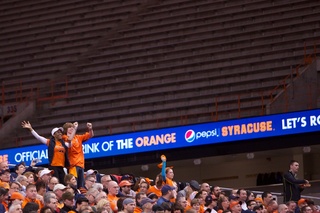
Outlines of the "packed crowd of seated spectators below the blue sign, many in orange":
{"type": "Polygon", "coordinates": [[[9,213],[94,212],[94,213],[318,213],[314,202],[300,199],[278,203],[271,192],[256,195],[244,188],[221,190],[196,180],[169,185],[174,177],[166,170],[154,181],[133,175],[102,175],[88,170],[84,186],[66,174],[64,182],[47,168],[24,163],[9,169],[0,163],[0,202],[9,213]]]}

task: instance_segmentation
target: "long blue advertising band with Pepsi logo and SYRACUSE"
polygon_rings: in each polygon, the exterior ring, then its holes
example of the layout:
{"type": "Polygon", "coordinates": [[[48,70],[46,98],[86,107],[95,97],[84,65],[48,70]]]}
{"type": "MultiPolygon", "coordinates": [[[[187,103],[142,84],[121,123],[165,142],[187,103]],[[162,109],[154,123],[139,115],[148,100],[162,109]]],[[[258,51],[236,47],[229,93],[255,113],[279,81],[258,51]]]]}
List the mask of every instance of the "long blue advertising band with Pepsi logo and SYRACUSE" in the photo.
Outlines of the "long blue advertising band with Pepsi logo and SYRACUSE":
{"type": "MultiPolygon", "coordinates": [[[[83,151],[85,159],[93,159],[319,130],[320,109],[316,109],[94,137],[83,144],[83,151]]],[[[0,160],[7,159],[11,164],[21,161],[28,164],[34,158],[48,164],[47,147],[35,145],[0,151],[0,160]]]]}

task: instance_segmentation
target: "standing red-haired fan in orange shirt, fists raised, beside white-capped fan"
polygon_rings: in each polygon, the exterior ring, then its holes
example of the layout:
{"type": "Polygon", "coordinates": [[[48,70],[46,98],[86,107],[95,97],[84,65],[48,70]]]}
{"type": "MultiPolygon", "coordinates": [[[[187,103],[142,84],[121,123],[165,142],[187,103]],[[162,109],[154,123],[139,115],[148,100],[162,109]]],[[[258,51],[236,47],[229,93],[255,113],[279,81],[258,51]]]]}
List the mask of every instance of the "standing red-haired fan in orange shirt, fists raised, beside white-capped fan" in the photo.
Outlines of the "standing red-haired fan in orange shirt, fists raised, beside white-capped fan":
{"type": "Polygon", "coordinates": [[[78,129],[78,122],[65,123],[63,125],[63,130],[65,135],[63,135],[63,140],[68,141],[72,138],[71,145],[68,150],[70,168],[69,173],[73,174],[77,178],[77,187],[84,186],[84,153],[82,149],[83,142],[89,140],[94,136],[92,124],[87,123],[88,132],[83,135],[76,135],[78,129]]]}

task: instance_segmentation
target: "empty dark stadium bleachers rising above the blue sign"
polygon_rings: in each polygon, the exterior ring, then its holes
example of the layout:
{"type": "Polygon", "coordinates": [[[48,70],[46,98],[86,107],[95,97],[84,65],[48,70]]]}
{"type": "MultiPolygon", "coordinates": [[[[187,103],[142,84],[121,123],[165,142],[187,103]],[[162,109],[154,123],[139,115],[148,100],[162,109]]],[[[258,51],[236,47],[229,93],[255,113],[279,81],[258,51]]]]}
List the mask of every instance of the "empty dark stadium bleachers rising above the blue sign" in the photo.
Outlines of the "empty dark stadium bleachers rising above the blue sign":
{"type": "Polygon", "coordinates": [[[260,115],[291,67],[319,47],[319,12],[304,0],[1,3],[6,101],[20,82],[41,97],[52,80],[56,95],[67,90],[34,115],[42,135],[66,121],[106,135],[260,115]]]}

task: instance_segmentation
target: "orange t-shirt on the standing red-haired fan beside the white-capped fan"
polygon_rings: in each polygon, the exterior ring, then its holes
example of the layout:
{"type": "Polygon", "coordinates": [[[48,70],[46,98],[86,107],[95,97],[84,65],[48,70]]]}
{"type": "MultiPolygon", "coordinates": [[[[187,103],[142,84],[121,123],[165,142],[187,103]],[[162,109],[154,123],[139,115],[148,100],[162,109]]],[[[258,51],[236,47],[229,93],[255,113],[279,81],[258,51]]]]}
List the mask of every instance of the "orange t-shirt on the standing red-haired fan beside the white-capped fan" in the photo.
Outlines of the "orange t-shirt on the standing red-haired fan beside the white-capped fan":
{"type": "MultiPolygon", "coordinates": [[[[62,139],[68,141],[68,136],[63,135],[62,139]]],[[[84,154],[82,143],[90,139],[89,132],[83,135],[75,135],[71,141],[71,147],[68,149],[70,167],[79,166],[84,168],[84,154]]]]}

